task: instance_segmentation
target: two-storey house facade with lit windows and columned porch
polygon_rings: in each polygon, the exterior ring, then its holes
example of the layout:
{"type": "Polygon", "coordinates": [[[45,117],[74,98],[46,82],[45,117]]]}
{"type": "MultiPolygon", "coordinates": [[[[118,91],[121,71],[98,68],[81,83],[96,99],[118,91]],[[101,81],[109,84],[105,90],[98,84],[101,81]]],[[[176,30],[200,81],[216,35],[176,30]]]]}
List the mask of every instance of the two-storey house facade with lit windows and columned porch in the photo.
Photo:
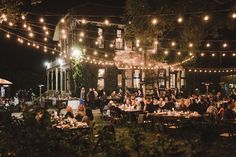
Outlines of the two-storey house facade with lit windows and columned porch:
{"type": "MultiPolygon", "coordinates": [[[[73,51],[79,49],[81,55],[99,60],[113,60],[125,64],[140,65],[142,58],[137,55],[133,41],[124,38],[125,28],[122,23],[112,24],[108,21],[101,22],[101,18],[87,18],[86,15],[102,17],[100,10],[106,10],[106,15],[122,15],[116,7],[96,6],[86,4],[75,7],[58,23],[54,40],[59,42],[60,57],[47,68],[47,90],[61,93],[75,92],[73,79],[73,51]],[[91,12],[89,12],[91,10],[91,12]]],[[[104,14],[104,11],[103,11],[104,14]]],[[[92,16],[93,17],[93,16],[92,16]]],[[[116,21],[113,19],[112,21],[116,21]]],[[[171,68],[144,70],[141,68],[127,68],[121,66],[106,66],[82,62],[84,65],[84,78],[86,89],[105,89],[112,92],[118,89],[142,89],[145,86],[147,93],[153,88],[178,88],[185,85],[185,71],[171,68]]],[[[163,63],[164,64],[164,63],[163,63]]],[[[166,64],[164,64],[166,65],[166,64]]]]}

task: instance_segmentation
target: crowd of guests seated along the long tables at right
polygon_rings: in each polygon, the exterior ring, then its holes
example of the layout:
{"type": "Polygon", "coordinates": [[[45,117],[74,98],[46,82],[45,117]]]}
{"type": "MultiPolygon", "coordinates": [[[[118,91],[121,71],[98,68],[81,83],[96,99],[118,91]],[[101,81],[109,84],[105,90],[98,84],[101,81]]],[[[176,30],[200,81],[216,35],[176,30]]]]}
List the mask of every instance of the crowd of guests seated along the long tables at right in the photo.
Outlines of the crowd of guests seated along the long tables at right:
{"type": "Polygon", "coordinates": [[[133,94],[126,93],[124,101],[118,103],[110,101],[103,110],[109,114],[111,111],[120,113],[122,110],[140,110],[147,113],[161,111],[183,111],[197,112],[201,115],[208,114],[219,120],[230,120],[236,118],[236,102],[234,97],[227,97],[221,92],[215,95],[192,94],[188,97],[177,96],[174,92],[165,95],[152,95],[143,98],[142,92],[137,91],[133,94]]]}

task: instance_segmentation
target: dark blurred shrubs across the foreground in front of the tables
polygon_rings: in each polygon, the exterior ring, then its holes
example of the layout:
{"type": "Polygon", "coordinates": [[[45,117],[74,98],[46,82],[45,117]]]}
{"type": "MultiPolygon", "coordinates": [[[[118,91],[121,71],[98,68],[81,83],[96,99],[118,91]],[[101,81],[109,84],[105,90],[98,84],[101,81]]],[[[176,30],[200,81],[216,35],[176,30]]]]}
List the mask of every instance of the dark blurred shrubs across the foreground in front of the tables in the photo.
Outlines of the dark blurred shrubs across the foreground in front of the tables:
{"type": "Polygon", "coordinates": [[[209,137],[216,129],[211,124],[202,128],[196,124],[186,124],[186,130],[181,130],[184,135],[180,138],[154,133],[150,134],[150,138],[142,129],[128,129],[128,132],[120,130],[117,136],[118,130],[114,126],[105,125],[94,139],[90,129],[52,128],[48,111],[40,107],[25,110],[23,121],[4,113],[5,118],[0,117],[2,156],[198,157],[209,154],[228,156],[229,152],[235,150],[234,139],[221,143],[219,140],[222,139],[214,136],[212,140],[209,137]],[[42,113],[39,119],[36,116],[38,113],[42,113]]]}

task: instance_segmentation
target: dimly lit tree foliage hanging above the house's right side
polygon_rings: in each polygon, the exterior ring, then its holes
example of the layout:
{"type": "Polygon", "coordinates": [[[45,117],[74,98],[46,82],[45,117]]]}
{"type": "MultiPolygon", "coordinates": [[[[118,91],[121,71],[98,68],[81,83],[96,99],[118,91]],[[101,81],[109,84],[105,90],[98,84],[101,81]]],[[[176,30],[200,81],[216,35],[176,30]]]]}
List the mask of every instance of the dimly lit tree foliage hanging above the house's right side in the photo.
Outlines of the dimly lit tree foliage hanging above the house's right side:
{"type": "Polygon", "coordinates": [[[127,0],[125,36],[134,42],[139,39],[145,55],[147,49],[153,47],[154,40],[158,40],[157,54],[150,54],[150,59],[176,62],[188,57],[189,52],[201,50],[201,40],[221,39],[222,30],[235,29],[228,13],[216,12],[222,9],[233,10],[234,7],[235,3],[230,0],[127,0]],[[204,15],[209,15],[208,22],[203,21],[204,15]],[[181,24],[177,22],[178,16],[183,17],[181,24]],[[152,23],[153,18],[158,20],[155,25],[152,23]],[[171,41],[177,42],[174,48],[170,47],[171,41]],[[194,43],[192,48],[188,47],[190,42],[194,43]],[[165,49],[170,51],[170,55],[160,53],[165,49]],[[181,51],[183,57],[171,55],[176,51],[181,51]]]}

